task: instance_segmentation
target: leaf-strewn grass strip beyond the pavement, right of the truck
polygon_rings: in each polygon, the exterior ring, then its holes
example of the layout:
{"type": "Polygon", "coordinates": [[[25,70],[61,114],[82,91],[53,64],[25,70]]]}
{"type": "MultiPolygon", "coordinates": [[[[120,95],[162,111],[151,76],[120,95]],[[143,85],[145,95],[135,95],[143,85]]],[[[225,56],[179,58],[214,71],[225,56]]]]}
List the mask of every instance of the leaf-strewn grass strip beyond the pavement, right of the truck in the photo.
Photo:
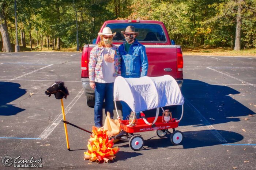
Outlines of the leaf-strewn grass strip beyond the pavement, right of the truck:
{"type": "Polygon", "coordinates": [[[234,51],[230,48],[186,48],[182,47],[183,55],[216,55],[216,56],[256,56],[256,48],[234,51]]]}

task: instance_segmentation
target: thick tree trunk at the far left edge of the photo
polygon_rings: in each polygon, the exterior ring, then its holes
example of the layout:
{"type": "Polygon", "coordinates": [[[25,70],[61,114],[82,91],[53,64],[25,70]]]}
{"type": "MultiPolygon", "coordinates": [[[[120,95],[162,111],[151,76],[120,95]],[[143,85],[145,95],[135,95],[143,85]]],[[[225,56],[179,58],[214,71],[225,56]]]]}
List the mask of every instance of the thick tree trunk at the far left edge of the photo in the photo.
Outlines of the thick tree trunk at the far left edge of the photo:
{"type": "Polygon", "coordinates": [[[7,1],[0,2],[0,32],[3,39],[3,49],[4,52],[12,52],[11,42],[7,27],[7,21],[5,17],[5,7],[8,5],[7,1]]]}

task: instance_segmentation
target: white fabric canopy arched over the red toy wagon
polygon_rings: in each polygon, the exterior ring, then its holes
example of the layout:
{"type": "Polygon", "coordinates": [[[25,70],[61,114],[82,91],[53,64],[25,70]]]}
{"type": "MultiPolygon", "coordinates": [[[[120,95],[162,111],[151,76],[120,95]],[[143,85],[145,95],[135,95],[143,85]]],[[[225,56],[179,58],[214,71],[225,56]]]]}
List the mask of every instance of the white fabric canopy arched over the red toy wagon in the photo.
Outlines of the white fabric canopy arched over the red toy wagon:
{"type": "Polygon", "coordinates": [[[128,79],[118,76],[114,82],[114,100],[126,102],[135,112],[184,104],[180,88],[170,75],[128,79]]]}

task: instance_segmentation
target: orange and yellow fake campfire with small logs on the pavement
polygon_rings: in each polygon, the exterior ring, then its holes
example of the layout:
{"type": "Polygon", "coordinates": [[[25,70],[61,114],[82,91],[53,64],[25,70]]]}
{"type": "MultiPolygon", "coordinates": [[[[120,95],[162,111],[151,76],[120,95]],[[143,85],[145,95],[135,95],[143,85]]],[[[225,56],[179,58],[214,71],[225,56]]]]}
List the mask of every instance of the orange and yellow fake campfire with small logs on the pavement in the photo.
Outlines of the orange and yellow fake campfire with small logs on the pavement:
{"type": "Polygon", "coordinates": [[[88,151],[84,152],[84,160],[88,160],[90,162],[96,161],[99,163],[101,161],[105,161],[110,163],[116,158],[116,153],[120,150],[118,147],[113,147],[113,140],[109,141],[109,136],[107,134],[107,130],[104,128],[97,128],[93,126],[93,134],[91,138],[88,140],[88,151]]]}

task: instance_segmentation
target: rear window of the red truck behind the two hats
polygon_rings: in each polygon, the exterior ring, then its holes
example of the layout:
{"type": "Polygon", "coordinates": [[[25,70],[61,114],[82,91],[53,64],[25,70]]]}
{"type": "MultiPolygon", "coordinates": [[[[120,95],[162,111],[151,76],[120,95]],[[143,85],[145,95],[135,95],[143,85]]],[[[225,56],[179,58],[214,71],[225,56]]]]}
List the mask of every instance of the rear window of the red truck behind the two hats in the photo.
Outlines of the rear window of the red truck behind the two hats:
{"type": "Polygon", "coordinates": [[[125,28],[129,25],[135,27],[135,32],[139,32],[138,37],[136,37],[138,41],[166,42],[165,33],[159,24],[113,23],[106,25],[106,27],[110,27],[113,33],[116,32],[116,35],[113,37],[114,41],[125,41],[121,31],[125,31],[125,28]]]}

